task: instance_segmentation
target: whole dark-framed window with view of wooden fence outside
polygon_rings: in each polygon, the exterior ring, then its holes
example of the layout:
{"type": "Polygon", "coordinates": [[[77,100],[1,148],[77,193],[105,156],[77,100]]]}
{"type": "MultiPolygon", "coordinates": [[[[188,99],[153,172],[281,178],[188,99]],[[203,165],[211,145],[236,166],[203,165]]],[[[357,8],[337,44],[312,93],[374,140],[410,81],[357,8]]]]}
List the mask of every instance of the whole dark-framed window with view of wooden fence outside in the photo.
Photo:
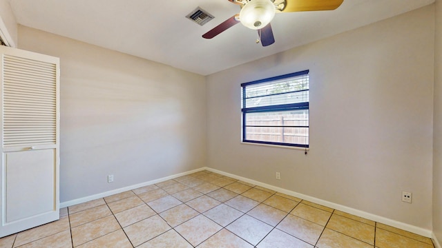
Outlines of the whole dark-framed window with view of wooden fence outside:
{"type": "Polygon", "coordinates": [[[309,147],[309,70],[241,89],[243,142],[309,147]]]}

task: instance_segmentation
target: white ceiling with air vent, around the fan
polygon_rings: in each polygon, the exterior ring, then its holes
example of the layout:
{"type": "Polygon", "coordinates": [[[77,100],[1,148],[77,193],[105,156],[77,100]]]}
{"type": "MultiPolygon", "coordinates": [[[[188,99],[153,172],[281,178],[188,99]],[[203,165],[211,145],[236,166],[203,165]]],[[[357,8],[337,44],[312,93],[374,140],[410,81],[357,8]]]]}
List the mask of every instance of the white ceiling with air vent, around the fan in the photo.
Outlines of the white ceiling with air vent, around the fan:
{"type": "MultiPolygon", "coordinates": [[[[296,1],[296,0],[292,0],[296,1]]],[[[324,0],[327,1],[327,0],[324,0]]],[[[10,0],[17,22],[202,75],[426,6],[434,0],[344,0],[332,11],[276,14],[276,42],[256,44],[256,30],[238,23],[213,39],[201,36],[239,12],[228,0],[10,0]],[[186,19],[200,7],[215,19],[186,19]]],[[[374,38],[376,39],[376,38],[374,38]]]]}

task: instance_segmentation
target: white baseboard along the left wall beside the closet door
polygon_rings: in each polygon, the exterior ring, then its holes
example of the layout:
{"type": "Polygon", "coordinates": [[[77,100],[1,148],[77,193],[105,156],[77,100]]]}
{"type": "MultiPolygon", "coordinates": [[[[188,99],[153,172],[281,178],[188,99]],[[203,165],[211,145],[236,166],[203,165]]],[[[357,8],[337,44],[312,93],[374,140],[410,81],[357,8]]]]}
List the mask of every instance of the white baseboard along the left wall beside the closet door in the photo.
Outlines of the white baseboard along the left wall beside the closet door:
{"type": "Polygon", "coordinates": [[[68,200],[66,202],[60,203],[60,208],[70,207],[70,206],[77,205],[77,204],[80,204],[80,203],[86,203],[86,202],[88,202],[90,200],[97,200],[99,198],[104,198],[106,196],[111,196],[113,194],[118,194],[118,193],[126,192],[128,190],[137,189],[139,187],[144,187],[144,186],[147,186],[147,185],[152,185],[154,183],[160,183],[160,182],[163,182],[165,180],[177,178],[177,177],[180,177],[180,176],[186,176],[186,175],[189,175],[189,174],[192,174],[192,173],[195,173],[195,172],[200,172],[200,171],[202,171],[204,169],[205,169],[205,167],[200,168],[200,169],[193,169],[193,170],[191,170],[189,172],[182,172],[182,173],[175,174],[175,175],[172,175],[172,176],[166,176],[164,178],[158,178],[158,179],[155,179],[155,180],[150,180],[150,181],[145,182],[145,183],[139,183],[139,184],[136,184],[136,185],[122,187],[122,188],[119,188],[119,189],[113,189],[113,190],[110,190],[108,192],[103,192],[103,193],[95,194],[95,195],[92,195],[92,196],[86,196],[86,197],[82,197],[82,198],[77,198],[75,200],[68,200]]]}

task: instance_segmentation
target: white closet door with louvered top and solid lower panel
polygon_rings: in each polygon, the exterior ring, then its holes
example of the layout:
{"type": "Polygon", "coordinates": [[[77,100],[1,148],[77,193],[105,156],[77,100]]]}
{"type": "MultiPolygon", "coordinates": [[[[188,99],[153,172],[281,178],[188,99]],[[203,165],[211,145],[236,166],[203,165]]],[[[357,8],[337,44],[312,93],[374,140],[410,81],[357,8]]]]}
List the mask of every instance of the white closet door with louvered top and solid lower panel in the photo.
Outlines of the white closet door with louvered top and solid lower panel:
{"type": "Polygon", "coordinates": [[[59,59],[0,52],[0,236],[7,236],[59,218],[59,59]]]}

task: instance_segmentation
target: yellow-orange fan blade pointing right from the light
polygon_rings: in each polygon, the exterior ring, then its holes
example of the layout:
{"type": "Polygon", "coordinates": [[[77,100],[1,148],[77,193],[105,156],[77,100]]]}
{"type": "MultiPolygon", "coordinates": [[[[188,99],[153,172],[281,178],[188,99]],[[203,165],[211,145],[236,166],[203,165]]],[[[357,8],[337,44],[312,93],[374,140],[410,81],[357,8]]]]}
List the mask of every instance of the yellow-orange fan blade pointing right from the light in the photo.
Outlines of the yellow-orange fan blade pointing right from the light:
{"type": "Polygon", "coordinates": [[[286,0],[282,12],[335,10],[344,0],[286,0]]]}

